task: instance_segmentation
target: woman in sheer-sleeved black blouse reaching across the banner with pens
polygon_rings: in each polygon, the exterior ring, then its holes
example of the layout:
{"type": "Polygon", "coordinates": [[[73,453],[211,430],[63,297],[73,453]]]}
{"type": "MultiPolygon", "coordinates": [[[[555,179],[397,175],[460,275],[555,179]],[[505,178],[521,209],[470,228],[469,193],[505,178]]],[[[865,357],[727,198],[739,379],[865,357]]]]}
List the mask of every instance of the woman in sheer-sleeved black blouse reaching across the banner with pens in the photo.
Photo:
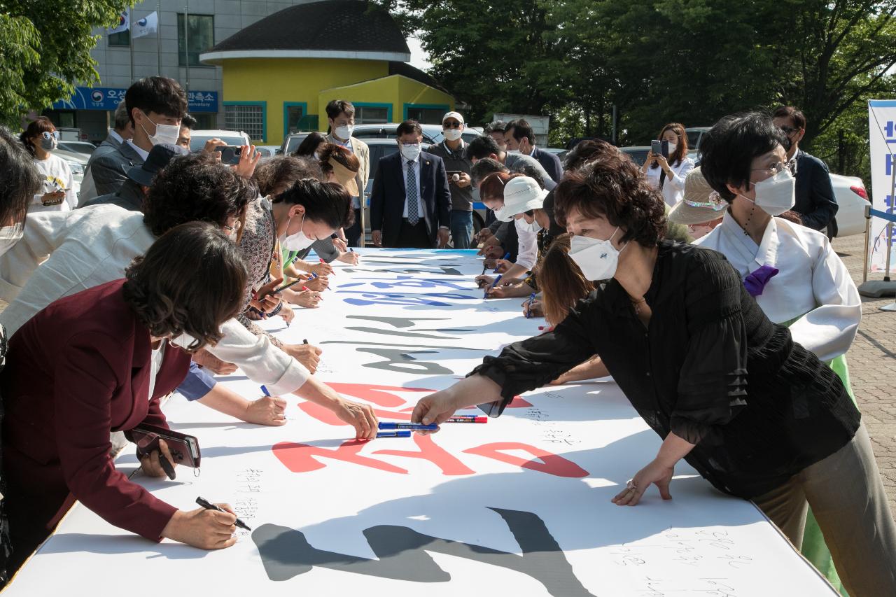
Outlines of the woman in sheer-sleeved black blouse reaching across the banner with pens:
{"type": "Polygon", "coordinates": [[[853,595],[896,594],[896,526],[860,415],[840,378],[771,324],[715,251],[661,240],[663,200],[617,153],[556,188],[573,261],[605,280],[551,333],[486,357],[470,376],[418,402],[441,423],[481,402],[497,416],[597,354],[644,420],[659,454],[613,501],[664,499],[684,458],[717,489],[754,499],[797,545],[806,500],[853,595]]]}

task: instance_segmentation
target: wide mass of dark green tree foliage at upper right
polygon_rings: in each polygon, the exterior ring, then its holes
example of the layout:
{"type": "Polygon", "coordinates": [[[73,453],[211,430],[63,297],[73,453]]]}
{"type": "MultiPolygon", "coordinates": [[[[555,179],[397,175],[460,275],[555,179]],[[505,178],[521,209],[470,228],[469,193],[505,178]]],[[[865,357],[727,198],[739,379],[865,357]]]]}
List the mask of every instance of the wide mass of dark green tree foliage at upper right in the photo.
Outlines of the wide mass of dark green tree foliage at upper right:
{"type": "Polygon", "coordinates": [[[376,4],[418,36],[471,120],[545,114],[555,140],[609,136],[612,106],[620,142],[642,144],[667,122],[792,104],[808,118],[804,145],[830,145],[867,98],[896,96],[896,0],[376,4]]]}

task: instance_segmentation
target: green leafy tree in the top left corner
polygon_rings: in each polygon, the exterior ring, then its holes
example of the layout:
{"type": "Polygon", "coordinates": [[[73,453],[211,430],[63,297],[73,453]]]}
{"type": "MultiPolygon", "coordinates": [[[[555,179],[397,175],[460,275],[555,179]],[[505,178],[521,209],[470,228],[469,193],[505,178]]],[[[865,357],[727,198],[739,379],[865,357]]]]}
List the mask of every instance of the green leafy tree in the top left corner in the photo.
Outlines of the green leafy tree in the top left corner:
{"type": "Polygon", "coordinates": [[[99,82],[91,30],[114,25],[126,0],[0,0],[0,119],[18,126],[31,108],[99,82]]]}

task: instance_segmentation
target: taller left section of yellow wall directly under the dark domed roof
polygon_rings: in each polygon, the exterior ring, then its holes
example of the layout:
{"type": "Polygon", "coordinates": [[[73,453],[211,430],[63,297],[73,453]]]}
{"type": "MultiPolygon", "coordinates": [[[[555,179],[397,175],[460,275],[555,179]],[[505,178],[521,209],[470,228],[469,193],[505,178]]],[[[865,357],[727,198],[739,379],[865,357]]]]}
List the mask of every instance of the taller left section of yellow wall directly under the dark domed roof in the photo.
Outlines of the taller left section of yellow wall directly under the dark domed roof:
{"type": "MultiPolygon", "coordinates": [[[[224,101],[264,101],[267,138],[264,144],[283,141],[283,103],[306,102],[308,114],[323,113],[317,105],[322,89],[375,79],[389,73],[384,60],[335,58],[239,58],[221,61],[224,101]]],[[[326,116],[323,117],[326,128],[326,116]]],[[[254,139],[253,141],[261,141],[254,139]]]]}

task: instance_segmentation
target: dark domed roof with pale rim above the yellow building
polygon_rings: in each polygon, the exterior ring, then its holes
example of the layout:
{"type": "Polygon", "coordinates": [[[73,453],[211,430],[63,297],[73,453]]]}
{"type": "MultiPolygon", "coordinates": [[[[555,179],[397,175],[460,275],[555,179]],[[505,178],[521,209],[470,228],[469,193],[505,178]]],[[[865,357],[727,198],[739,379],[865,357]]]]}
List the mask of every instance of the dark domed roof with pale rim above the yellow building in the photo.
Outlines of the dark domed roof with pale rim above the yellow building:
{"type": "Polygon", "coordinates": [[[364,0],[321,0],[273,13],[202,54],[210,62],[246,57],[407,62],[410,50],[383,8],[364,0]]]}

